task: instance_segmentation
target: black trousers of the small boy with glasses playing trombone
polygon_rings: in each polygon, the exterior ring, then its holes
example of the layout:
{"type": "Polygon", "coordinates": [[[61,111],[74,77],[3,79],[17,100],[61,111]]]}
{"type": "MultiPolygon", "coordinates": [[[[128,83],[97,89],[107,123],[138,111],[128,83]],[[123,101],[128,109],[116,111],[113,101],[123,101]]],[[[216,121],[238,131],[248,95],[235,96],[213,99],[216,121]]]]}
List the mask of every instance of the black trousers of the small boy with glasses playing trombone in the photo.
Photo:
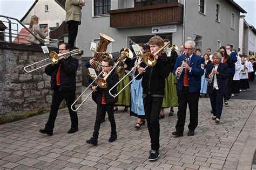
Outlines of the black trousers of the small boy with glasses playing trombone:
{"type": "Polygon", "coordinates": [[[94,131],[92,134],[93,138],[98,139],[100,123],[102,123],[102,120],[105,118],[106,112],[107,112],[107,115],[109,116],[109,122],[111,125],[111,136],[117,135],[116,121],[114,121],[114,104],[97,104],[97,115],[96,115],[94,131]]]}

